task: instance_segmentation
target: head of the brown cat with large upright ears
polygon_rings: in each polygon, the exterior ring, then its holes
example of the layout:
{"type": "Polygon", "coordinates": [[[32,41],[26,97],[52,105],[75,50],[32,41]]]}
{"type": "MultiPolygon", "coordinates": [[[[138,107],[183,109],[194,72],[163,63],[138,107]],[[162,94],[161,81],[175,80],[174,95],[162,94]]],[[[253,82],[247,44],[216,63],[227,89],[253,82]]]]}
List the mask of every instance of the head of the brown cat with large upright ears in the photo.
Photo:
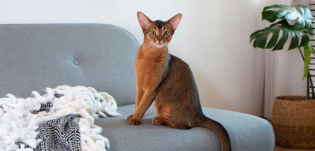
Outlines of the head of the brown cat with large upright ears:
{"type": "Polygon", "coordinates": [[[141,12],[138,12],[137,16],[144,34],[144,45],[153,45],[158,48],[169,44],[181,19],[180,13],[165,22],[152,21],[141,12]]]}

